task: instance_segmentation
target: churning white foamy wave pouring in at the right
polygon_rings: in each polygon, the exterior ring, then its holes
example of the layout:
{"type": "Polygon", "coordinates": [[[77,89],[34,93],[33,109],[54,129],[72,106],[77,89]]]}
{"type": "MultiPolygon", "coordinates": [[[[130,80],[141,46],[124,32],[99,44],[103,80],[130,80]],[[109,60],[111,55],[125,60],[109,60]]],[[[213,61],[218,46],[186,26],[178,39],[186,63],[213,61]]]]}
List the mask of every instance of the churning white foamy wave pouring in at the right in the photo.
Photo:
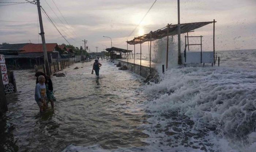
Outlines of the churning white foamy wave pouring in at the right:
{"type": "Polygon", "coordinates": [[[169,69],[159,84],[145,86],[154,98],[146,105],[152,115],[143,126],[146,142],[181,151],[254,152],[255,75],[221,67],[169,69]]]}

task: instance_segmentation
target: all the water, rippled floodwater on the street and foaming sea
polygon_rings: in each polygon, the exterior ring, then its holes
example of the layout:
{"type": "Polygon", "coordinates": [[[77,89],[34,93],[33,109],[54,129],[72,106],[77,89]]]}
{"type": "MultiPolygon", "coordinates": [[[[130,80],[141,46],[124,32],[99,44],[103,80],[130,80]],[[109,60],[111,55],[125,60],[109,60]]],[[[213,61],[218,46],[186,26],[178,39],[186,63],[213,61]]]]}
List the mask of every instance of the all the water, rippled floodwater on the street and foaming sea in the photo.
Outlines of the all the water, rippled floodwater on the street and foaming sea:
{"type": "Polygon", "coordinates": [[[255,152],[256,50],[217,54],[219,67],[174,66],[157,84],[111,62],[97,80],[86,69],[92,63],[77,63],[53,77],[56,109],[45,115],[33,99],[33,73],[15,71],[20,92],[1,122],[0,150],[255,152]]]}

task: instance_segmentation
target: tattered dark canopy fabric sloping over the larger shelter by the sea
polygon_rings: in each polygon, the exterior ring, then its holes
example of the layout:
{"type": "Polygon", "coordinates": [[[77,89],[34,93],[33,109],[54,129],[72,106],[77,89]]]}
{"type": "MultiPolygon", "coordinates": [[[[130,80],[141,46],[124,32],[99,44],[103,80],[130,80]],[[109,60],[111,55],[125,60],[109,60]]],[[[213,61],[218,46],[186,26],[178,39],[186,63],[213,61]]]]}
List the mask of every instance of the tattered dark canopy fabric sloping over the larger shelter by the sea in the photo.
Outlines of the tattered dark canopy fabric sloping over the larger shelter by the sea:
{"type": "MultiPolygon", "coordinates": [[[[195,30],[197,28],[206,26],[207,24],[210,24],[210,23],[213,23],[213,21],[212,22],[196,22],[196,23],[180,24],[180,31],[181,31],[181,34],[187,33],[189,31],[195,30]]],[[[134,38],[133,40],[128,41],[127,43],[134,45],[134,44],[140,44],[140,43],[150,41],[150,35],[151,35],[151,41],[154,41],[157,39],[162,39],[165,36],[174,36],[177,34],[178,34],[178,24],[174,24],[174,25],[171,24],[171,25],[163,27],[157,31],[150,32],[148,34],[134,38]]]]}

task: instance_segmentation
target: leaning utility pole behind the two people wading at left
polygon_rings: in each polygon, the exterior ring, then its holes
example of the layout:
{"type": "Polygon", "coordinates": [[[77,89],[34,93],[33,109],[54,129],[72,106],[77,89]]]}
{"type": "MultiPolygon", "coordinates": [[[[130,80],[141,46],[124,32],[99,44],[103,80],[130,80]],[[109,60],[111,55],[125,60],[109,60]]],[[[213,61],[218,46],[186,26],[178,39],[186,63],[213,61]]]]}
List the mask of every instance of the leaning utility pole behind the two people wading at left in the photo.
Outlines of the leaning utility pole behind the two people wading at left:
{"type": "Polygon", "coordinates": [[[45,44],[45,32],[44,32],[44,27],[43,27],[43,22],[42,22],[41,6],[40,6],[40,1],[39,0],[37,0],[37,9],[38,9],[40,31],[41,31],[41,33],[39,33],[39,34],[42,37],[42,45],[43,45],[43,51],[44,51],[44,61],[45,61],[46,75],[51,75],[50,74],[48,56],[47,56],[47,50],[46,50],[46,44],[45,44]]]}

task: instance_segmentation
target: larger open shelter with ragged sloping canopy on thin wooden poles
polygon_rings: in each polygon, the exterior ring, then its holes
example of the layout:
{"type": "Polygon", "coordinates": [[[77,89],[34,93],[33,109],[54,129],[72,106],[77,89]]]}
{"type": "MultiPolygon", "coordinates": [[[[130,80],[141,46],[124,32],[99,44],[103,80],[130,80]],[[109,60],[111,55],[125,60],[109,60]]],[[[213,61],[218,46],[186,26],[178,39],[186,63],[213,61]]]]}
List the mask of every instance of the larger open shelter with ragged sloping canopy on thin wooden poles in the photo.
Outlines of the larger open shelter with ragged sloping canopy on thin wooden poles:
{"type": "MultiPolygon", "coordinates": [[[[197,28],[206,26],[208,24],[214,23],[214,32],[213,32],[213,41],[214,41],[214,36],[215,36],[215,20],[211,21],[211,22],[195,22],[195,23],[184,23],[184,24],[167,24],[166,27],[163,27],[159,30],[156,30],[154,32],[150,32],[148,34],[144,34],[142,36],[138,36],[135,37],[134,39],[127,41],[127,44],[131,44],[134,45],[135,48],[135,44],[141,44],[144,42],[150,42],[150,69],[151,69],[151,42],[154,40],[158,40],[158,39],[162,39],[164,37],[167,36],[167,51],[166,51],[166,69],[167,69],[167,62],[168,62],[168,41],[169,41],[169,36],[174,36],[174,35],[178,35],[179,31],[178,28],[180,26],[180,34],[184,34],[188,32],[191,32],[197,28]]],[[[189,37],[199,37],[199,36],[186,36],[185,38],[188,39],[189,37]]],[[[185,51],[186,51],[186,47],[189,45],[201,45],[201,63],[202,63],[202,36],[201,37],[201,44],[185,44],[185,51]]],[[[214,44],[214,49],[213,49],[213,60],[215,63],[215,43],[214,44]]],[[[186,52],[184,51],[184,56],[185,56],[185,62],[186,62],[186,52]]],[[[140,52],[141,52],[141,47],[140,47],[140,52]]],[[[134,49],[134,54],[135,54],[135,49],[134,49]]]]}

